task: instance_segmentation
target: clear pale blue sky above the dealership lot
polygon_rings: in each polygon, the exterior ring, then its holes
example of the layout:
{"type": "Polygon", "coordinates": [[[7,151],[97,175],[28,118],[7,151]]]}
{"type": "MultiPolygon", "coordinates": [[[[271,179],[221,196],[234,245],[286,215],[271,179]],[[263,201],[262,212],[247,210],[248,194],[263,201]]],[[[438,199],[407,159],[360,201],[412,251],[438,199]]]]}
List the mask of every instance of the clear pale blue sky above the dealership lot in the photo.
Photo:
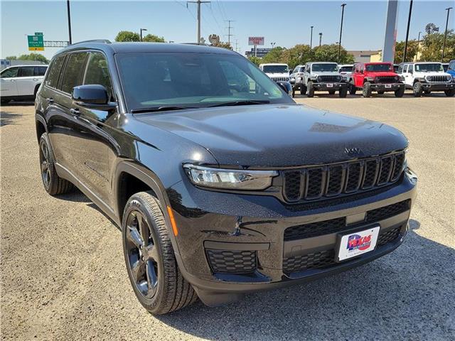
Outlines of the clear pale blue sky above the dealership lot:
{"type": "MultiPolygon", "coordinates": [[[[12,1],[0,0],[0,57],[28,53],[27,35],[43,32],[44,40],[68,40],[68,19],[65,0],[12,1]]],[[[290,48],[298,43],[309,44],[310,26],[314,26],[313,45],[335,43],[339,38],[341,4],[345,2],[342,45],[347,50],[380,50],[385,33],[387,1],[230,1],[212,0],[201,5],[201,33],[208,40],[211,33],[223,41],[228,37],[228,20],[232,20],[233,47],[244,53],[249,50],[248,36],[264,36],[264,47],[274,42],[290,48]]],[[[444,32],[445,9],[454,1],[414,0],[410,39],[424,33],[427,23],[435,23],[444,32]]],[[[176,43],[196,41],[196,4],[181,0],[166,1],[82,1],[71,0],[73,43],[89,39],[114,40],[119,31],[164,36],[176,43]]],[[[410,1],[399,1],[397,40],[406,36],[410,1]]],[[[449,29],[454,28],[454,10],[450,12],[449,29]]],[[[51,58],[58,48],[45,48],[51,58]]]]}

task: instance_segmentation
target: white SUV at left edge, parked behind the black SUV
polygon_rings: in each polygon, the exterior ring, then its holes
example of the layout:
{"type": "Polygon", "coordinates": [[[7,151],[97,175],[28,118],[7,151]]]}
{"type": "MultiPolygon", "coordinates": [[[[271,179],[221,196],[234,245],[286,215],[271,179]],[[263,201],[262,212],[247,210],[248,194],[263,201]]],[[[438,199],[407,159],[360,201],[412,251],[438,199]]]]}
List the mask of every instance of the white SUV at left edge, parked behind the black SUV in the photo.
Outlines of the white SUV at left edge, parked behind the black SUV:
{"type": "Polygon", "coordinates": [[[16,65],[0,72],[1,104],[35,99],[48,65],[16,65]]]}

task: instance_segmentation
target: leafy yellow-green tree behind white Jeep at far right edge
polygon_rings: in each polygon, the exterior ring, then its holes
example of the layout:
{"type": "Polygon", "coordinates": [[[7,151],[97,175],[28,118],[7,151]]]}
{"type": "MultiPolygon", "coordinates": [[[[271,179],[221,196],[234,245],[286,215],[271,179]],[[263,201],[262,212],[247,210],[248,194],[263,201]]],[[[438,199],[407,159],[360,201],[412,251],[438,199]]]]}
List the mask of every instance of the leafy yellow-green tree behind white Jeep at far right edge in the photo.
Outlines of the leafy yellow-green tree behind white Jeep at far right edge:
{"type": "MultiPolygon", "coordinates": [[[[442,58],[442,45],[444,44],[444,33],[431,33],[424,36],[422,40],[422,55],[419,61],[434,62],[442,58]]],[[[444,51],[444,63],[455,59],[455,33],[454,30],[447,31],[446,50],[444,51]]]]}

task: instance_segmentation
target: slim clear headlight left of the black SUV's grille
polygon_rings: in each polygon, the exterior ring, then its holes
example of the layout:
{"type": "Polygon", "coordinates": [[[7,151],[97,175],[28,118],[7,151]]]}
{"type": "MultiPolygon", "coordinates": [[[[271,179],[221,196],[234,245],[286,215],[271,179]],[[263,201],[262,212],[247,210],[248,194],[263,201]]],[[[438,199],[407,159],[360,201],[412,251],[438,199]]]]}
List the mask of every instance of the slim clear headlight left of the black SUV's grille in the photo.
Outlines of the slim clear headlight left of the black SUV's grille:
{"type": "Polygon", "coordinates": [[[272,178],[278,175],[277,171],[242,171],[191,164],[185,164],[183,168],[195,185],[231,190],[264,190],[272,185],[272,178]]]}

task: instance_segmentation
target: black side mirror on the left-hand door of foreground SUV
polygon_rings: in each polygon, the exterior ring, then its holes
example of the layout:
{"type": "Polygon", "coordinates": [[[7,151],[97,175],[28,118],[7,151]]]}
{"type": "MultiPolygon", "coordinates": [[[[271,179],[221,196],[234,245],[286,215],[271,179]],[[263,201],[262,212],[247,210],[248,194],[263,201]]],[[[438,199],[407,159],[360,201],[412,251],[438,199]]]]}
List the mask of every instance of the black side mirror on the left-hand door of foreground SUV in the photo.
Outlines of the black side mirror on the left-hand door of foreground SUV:
{"type": "Polygon", "coordinates": [[[73,101],[81,107],[97,110],[111,110],[117,106],[109,103],[106,88],[99,84],[73,87],[73,101]]]}

